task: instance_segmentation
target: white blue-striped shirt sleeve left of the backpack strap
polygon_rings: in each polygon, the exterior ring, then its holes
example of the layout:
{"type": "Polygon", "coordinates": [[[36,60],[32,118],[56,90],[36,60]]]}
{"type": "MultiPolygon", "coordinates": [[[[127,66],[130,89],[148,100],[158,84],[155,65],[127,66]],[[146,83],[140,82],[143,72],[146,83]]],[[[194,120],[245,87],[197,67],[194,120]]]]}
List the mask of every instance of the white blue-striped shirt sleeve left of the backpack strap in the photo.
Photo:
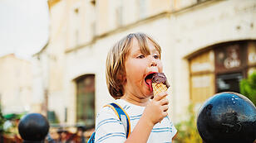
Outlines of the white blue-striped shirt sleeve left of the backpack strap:
{"type": "Polygon", "coordinates": [[[96,117],[96,143],[122,143],[126,141],[125,126],[111,107],[103,107],[96,117]]]}

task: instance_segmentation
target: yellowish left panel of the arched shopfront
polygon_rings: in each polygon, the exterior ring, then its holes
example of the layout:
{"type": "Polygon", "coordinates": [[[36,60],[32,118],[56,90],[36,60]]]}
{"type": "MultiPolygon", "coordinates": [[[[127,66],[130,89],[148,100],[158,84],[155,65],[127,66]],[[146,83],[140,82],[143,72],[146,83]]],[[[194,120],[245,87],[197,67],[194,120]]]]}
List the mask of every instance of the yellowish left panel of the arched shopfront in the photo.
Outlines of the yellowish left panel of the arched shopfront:
{"type": "Polygon", "coordinates": [[[214,51],[209,50],[190,59],[190,99],[204,102],[214,94],[214,51]]]}

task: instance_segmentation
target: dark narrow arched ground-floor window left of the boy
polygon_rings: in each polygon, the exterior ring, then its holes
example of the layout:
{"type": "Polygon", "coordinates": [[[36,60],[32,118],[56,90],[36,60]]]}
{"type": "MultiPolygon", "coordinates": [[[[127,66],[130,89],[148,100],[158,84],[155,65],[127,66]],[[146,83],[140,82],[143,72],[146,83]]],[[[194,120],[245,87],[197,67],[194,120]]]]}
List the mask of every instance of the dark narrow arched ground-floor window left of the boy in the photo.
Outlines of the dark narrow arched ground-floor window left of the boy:
{"type": "Polygon", "coordinates": [[[95,75],[86,74],[76,79],[76,122],[95,125],[95,75]]]}

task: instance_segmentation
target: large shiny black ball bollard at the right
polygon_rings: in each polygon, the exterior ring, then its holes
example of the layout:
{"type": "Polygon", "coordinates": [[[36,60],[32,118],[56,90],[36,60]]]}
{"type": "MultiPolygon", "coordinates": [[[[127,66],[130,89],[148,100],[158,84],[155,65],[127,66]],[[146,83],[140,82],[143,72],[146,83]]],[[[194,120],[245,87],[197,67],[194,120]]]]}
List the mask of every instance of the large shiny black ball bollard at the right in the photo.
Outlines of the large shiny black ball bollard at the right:
{"type": "Polygon", "coordinates": [[[253,143],[256,107],[239,93],[217,93],[200,108],[197,129],[204,143],[253,143]]]}

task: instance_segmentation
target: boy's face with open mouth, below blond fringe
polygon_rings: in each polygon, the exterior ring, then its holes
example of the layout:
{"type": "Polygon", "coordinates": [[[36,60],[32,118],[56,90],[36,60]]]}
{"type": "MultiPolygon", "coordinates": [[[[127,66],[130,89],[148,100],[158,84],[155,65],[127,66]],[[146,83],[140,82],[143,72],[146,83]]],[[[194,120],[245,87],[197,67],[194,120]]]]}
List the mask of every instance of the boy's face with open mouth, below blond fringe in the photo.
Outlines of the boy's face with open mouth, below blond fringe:
{"type": "Polygon", "coordinates": [[[143,55],[140,51],[138,41],[133,38],[130,53],[126,55],[125,69],[126,82],[125,94],[137,98],[149,98],[152,95],[150,85],[145,82],[148,74],[162,72],[163,67],[160,61],[160,54],[153,43],[147,40],[150,55],[143,55]]]}

